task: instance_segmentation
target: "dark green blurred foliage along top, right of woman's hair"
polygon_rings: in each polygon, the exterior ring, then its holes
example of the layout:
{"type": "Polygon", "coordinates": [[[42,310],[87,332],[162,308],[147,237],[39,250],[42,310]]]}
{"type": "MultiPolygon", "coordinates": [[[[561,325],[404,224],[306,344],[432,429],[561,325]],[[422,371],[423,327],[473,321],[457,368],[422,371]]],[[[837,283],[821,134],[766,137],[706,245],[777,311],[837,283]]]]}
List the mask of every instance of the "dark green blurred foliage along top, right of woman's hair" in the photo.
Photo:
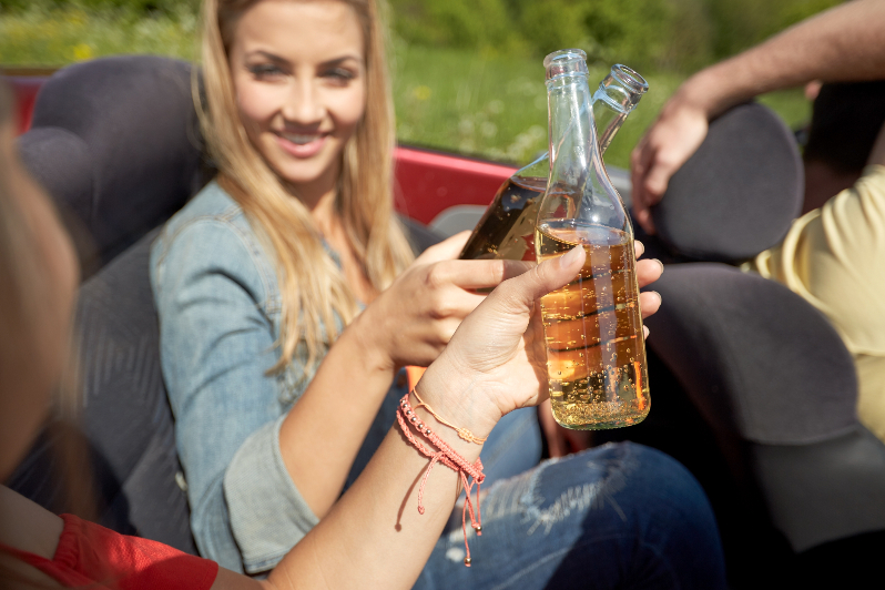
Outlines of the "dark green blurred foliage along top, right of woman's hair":
{"type": "Polygon", "coordinates": [[[600,63],[693,71],[841,0],[389,0],[413,44],[543,57],[583,48],[600,63]]]}

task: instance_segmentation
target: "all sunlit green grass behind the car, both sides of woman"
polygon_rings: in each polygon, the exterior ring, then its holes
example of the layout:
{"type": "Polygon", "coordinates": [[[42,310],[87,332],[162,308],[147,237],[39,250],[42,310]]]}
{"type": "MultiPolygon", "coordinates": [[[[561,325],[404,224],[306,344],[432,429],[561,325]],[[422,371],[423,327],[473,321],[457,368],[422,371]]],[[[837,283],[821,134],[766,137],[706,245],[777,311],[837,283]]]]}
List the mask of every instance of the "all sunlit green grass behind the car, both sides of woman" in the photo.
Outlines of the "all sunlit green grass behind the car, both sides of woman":
{"type": "MultiPolygon", "coordinates": [[[[196,20],[186,13],[0,12],[0,64],[61,67],[120,53],[193,59],[196,29],[196,20]]],[[[399,141],[515,164],[547,149],[541,60],[396,43],[390,62],[399,141]]],[[[607,71],[591,68],[591,84],[607,71]]],[[[630,150],[683,80],[669,73],[645,78],[649,92],[609,148],[610,164],[629,165],[630,150]]],[[[810,115],[801,91],[773,93],[763,102],[791,126],[810,115]]]]}

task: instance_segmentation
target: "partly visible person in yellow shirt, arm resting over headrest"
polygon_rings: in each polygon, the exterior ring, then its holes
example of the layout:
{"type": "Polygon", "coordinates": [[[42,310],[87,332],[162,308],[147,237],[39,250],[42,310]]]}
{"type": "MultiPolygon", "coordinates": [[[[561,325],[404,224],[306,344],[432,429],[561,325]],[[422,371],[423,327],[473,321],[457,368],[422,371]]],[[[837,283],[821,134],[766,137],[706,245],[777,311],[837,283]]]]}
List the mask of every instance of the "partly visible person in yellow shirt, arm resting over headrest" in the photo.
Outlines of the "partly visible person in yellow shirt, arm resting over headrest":
{"type": "MultiPolygon", "coordinates": [[[[813,80],[885,79],[884,27],[885,2],[846,2],[686,80],[632,153],[634,218],[654,232],[649,207],[698,150],[709,122],[726,109],[813,80]]],[[[825,84],[822,93],[828,92],[825,84]]],[[[852,109],[851,102],[846,108],[852,109]]],[[[866,135],[873,138],[881,124],[881,119],[869,121],[866,135]]],[[[846,179],[853,182],[856,175],[841,173],[837,163],[822,164],[822,154],[834,146],[812,140],[816,144],[806,153],[806,213],[780,245],[761,253],[751,266],[830,319],[854,356],[861,421],[885,440],[885,140],[879,133],[862,177],[837,195],[848,186],[846,179]],[[822,190],[832,192],[824,195],[822,190]]]]}

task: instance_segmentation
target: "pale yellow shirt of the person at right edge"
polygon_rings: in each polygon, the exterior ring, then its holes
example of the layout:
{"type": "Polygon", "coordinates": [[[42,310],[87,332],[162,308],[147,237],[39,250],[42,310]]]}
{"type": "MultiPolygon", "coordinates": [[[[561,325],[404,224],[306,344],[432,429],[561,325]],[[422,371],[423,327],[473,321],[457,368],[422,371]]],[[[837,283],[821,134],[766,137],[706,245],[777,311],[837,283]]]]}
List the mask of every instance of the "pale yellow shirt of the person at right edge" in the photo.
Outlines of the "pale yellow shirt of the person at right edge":
{"type": "Polygon", "coordinates": [[[830,319],[854,356],[861,421],[885,440],[885,166],[794,221],[755,269],[830,319]]]}

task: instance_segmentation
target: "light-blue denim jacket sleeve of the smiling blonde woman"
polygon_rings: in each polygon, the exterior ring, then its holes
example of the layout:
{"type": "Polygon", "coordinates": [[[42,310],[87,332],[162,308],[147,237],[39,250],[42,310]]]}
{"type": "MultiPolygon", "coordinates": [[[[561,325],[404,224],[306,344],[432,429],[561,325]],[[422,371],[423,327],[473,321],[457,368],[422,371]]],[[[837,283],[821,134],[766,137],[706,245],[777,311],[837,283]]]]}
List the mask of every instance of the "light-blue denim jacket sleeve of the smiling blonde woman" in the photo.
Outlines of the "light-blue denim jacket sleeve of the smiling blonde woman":
{"type": "Polygon", "coordinates": [[[266,571],[318,522],[279,451],[283,419],[313,375],[303,343],[284,372],[266,374],[279,358],[272,257],[212,182],[154,243],[151,284],[197,548],[234,571],[266,571]]]}

